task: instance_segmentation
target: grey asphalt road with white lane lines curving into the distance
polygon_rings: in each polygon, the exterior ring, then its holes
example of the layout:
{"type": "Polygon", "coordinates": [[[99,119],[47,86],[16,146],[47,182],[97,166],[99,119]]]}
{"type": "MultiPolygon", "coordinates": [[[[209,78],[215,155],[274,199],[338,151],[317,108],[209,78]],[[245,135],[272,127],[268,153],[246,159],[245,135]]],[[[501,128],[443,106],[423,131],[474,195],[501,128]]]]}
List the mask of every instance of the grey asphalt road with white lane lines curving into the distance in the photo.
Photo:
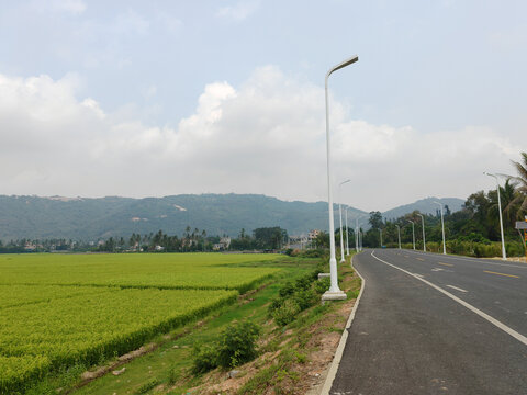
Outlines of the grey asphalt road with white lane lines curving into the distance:
{"type": "Polygon", "coordinates": [[[527,264],[368,250],[330,394],[527,394],[527,264]]]}

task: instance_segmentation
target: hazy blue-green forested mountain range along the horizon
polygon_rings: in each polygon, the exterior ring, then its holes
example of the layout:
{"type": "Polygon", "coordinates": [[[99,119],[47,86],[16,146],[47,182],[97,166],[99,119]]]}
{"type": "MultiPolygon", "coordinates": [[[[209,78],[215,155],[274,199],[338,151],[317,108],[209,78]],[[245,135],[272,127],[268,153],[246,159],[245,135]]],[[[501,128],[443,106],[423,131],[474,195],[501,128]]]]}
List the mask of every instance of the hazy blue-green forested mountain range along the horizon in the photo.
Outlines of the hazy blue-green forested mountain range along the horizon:
{"type": "MultiPolygon", "coordinates": [[[[428,198],[392,208],[383,216],[394,218],[414,210],[436,213],[433,201],[448,204],[455,212],[461,199],[428,198]]],[[[335,205],[338,226],[338,206],[335,205]]],[[[369,214],[349,207],[348,222],[367,223],[369,214]]],[[[343,215],[344,218],[344,215],[343,215]]],[[[344,219],[343,219],[344,221],[344,219]]],[[[260,194],[181,194],[165,198],[63,198],[0,195],[0,240],[66,238],[98,240],[110,236],[130,237],[161,229],[182,235],[187,226],[208,235],[236,237],[240,229],[280,226],[290,235],[310,229],[327,229],[326,202],[287,202],[260,194]]]]}

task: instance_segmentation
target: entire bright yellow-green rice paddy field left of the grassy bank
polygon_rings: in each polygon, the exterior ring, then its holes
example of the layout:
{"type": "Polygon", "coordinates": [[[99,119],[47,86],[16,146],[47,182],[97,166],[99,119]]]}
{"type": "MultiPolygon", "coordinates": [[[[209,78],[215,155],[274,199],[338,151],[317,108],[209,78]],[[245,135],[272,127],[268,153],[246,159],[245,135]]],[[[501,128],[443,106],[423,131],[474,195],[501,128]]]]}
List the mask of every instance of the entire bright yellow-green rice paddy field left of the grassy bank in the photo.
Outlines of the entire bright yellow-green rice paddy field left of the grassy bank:
{"type": "Polygon", "coordinates": [[[90,365],[232,303],[273,255],[0,256],[0,393],[90,365]]]}

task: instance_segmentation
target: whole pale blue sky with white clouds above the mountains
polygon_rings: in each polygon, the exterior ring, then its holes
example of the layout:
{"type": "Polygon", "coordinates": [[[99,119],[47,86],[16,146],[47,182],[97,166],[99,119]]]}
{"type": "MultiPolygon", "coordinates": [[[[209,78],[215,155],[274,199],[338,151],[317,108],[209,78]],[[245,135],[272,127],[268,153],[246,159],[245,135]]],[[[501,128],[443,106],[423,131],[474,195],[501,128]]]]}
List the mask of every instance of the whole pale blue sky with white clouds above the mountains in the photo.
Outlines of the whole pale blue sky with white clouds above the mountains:
{"type": "Polygon", "coordinates": [[[0,0],[0,194],[327,201],[358,55],[336,199],[466,199],[527,151],[525,48],[525,1],[0,0]]]}

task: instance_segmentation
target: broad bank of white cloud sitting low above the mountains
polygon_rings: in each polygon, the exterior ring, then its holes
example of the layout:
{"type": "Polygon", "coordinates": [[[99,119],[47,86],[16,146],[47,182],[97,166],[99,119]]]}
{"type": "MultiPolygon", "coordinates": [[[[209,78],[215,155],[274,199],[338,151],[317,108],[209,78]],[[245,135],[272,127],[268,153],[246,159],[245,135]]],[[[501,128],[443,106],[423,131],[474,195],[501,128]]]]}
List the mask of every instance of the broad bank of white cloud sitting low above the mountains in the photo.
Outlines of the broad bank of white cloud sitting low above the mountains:
{"type": "MultiPolygon", "coordinates": [[[[77,99],[78,78],[0,75],[2,193],[167,195],[265,193],[326,199],[324,90],[262,67],[242,86],[204,88],[177,127],[145,125],[77,99]]],[[[428,195],[491,188],[520,147],[487,127],[423,134],[352,120],[332,99],[335,180],[343,200],[386,210],[428,195]]],[[[123,115],[124,114],[124,115],[123,115]]]]}

